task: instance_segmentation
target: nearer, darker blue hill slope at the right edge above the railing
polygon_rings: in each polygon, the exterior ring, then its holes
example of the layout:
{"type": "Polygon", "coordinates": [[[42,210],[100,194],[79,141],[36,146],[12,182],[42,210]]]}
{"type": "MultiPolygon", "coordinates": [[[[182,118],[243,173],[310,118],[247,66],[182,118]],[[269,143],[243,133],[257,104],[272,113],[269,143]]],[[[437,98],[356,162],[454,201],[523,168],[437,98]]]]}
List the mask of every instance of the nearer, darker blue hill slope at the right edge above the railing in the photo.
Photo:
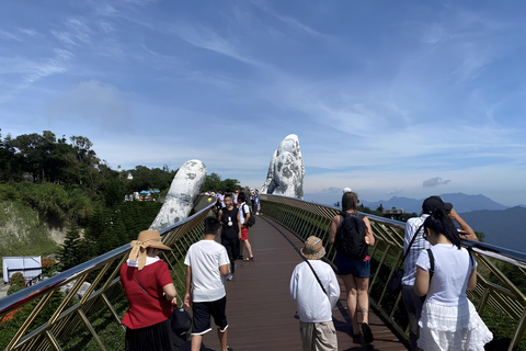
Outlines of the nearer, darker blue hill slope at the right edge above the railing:
{"type": "Polygon", "coordinates": [[[473,230],[485,234],[485,242],[526,252],[525,207],[515,206],[504,211],[473,211],[462,213],[462,218],[473,230]]]}

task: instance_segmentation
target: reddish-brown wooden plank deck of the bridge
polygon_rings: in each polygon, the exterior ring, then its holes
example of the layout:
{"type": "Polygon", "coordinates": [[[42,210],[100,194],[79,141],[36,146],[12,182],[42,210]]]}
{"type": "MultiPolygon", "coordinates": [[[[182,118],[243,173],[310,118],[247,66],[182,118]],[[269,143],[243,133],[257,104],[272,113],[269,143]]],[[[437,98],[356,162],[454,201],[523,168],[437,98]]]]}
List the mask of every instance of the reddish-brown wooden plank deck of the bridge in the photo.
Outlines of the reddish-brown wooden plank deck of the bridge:
{"type": "MultiPolygon", "coordinates": [[[[233,279],[226,282],[228,343],[235,351],[301,350],[296,302],[288,286],[294,268],[301,261],[302,242],[265,216],[256,218],[249,240],[255,260],[237,261],[233,279]]],[[[339,350],[408,350],[373,313],[369,325],[375,341],[368,346],[353,343],[343,282],[339,281],[342,293],[333,310],[339,350]]],[[[182,350],[190,350],[188,342],[182,350]]],[[[220,350],[216,330],[204,336],[202,350],[220,350]]]]}

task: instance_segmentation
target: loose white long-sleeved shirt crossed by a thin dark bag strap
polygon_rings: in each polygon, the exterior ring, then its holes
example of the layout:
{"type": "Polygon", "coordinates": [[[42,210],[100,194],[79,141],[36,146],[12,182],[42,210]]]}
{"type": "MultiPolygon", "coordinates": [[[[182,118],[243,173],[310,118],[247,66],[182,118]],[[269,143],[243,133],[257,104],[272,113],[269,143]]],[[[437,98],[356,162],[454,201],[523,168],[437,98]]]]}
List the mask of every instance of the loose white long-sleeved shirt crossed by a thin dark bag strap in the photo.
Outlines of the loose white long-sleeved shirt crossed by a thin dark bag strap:
{"type": "Polygon", "coordinates": [[[294,269],[290,278],[290,296],[296,298],[299,320],[323,322],[332,320],[332,308],[340,298],[340,285],[332,268],[320,260],[309,260],[329,297],[323,293],[307,262],[294,269]]]}

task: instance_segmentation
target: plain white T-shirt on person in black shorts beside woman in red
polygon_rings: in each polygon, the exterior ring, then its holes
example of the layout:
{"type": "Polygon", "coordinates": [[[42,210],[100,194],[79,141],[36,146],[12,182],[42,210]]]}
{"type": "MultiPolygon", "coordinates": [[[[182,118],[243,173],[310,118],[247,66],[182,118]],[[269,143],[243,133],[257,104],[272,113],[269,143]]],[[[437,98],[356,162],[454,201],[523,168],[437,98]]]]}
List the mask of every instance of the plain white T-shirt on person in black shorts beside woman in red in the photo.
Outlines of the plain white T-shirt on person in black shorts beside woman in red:
{"type": "Polygon", "coordinates": [[[226,295],[225,279],[219,267],[230,264],[227,249],[214,240],[193,244],[184,264],[192,268],[193,302],[204,303],[222,298],[226,295]]]}

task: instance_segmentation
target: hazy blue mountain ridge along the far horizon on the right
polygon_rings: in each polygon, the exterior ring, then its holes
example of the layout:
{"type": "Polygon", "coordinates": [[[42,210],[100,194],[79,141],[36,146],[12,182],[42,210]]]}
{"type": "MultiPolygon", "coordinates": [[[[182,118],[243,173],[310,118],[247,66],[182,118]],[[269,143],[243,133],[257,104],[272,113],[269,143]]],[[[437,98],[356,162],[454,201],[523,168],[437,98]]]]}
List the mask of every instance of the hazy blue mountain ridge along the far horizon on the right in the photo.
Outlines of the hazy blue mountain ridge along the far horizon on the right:
{"type": "MultiPolygon", "coordinates": [[[[506,210],[508,208],[507,206],[504,206],[498,202],[494,202],[488,196],[484,195],[466,195],[462,193],[453,193],[453,194],[441,194],[442,199],[444,199],[445,202],[450,202],[453,204],[453,207],[458,212],[458,213],[465,213],[465,212],[472,212],[472,211],[481,211],[481,210],[492,210],[492,211],[498,211],[498,210],[506,210]]],[[[376,202],[367,202],[363,201],[364,205],[369,207],[370,210],[376,210],[380,206],[380,204],[384,206],[384,208],[403,208],[408,213],[416,213],[420,214],[422,211],[422,203],[424,202],[425,199],[409,199],[409,197],[403,197],[403,196],[393,196],[390,200],[387,201],[376,201],[376,202]]]]}

